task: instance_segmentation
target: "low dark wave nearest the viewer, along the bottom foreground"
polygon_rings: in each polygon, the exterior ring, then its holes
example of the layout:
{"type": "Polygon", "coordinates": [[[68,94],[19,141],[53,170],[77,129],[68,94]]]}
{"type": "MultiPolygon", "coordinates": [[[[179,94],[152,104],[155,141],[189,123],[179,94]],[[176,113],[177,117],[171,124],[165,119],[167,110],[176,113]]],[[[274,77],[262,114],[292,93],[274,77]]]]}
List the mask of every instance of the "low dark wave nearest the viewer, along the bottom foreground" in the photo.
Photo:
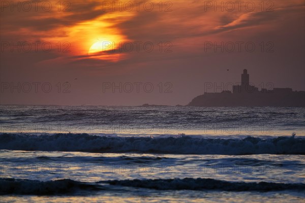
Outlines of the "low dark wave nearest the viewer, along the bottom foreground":
{"type": "MultiPolygon", "coordinates": [[[[220,191],[280,191],[304,190],[302,183],[271,183],[271,182],[228,182],[215,179],[184,178],[184,179],[143,179],[143,180],[109,180],[96,183],[85,183],[70,179],[55,181],[36,181],[26,179],[0,179],[0,195],[31,194],[56,195],[73,194],[76,191],[84,193],[102,190],[114,190],[117,186],[137,187],[156,190],[220,190],[220,191]],[[108,184],[108,186],[106,185],[108,184]]],[[[124,192],[121,187],[117,190],[124,192]]]]}

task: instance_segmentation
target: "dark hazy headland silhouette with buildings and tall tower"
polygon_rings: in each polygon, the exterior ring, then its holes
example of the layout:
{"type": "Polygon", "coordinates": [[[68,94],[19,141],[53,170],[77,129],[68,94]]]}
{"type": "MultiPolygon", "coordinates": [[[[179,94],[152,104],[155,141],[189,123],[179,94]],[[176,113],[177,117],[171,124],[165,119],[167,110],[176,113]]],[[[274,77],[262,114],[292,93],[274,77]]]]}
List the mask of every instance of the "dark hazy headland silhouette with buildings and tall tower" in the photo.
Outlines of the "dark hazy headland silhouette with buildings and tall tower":
{"type": "Polygon", "coordinates": [[[236,106],[275,106],[305,107],[305,91],[292,91],[292,88],[266,89],[251,85],[247,69],[241,74],[241,83],[220,93],[209,93],[195,97],[188,106],[236,107],[236,106]]]}

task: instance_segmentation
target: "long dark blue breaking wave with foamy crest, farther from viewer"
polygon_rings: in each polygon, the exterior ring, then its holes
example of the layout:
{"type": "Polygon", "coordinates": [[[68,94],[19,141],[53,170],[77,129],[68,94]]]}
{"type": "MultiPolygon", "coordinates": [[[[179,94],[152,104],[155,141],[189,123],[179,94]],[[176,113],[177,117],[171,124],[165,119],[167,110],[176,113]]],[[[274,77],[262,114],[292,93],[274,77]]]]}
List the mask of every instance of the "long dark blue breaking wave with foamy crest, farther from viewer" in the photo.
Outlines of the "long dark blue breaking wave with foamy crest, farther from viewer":
{"type": "Polygon", "coordinates": [[[305,139],[295,137],[221,139],[189,136],[148,138],[82,134],[0,134],[0,149],[24,151],[80,151],[97,153],[164,154],[305,154],[305,139]]]}

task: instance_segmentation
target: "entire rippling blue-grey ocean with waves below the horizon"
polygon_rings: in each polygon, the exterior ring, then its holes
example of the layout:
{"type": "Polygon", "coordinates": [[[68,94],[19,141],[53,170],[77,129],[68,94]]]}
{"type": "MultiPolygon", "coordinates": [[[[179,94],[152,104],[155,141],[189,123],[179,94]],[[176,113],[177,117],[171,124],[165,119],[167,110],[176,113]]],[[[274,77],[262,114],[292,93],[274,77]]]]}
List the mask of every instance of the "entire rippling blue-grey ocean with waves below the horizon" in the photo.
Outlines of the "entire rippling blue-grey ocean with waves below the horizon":
{"type": "Polygon", "coordinates": [[[1,106],[1,202],[304,202],[305,109],[1,106]]]}

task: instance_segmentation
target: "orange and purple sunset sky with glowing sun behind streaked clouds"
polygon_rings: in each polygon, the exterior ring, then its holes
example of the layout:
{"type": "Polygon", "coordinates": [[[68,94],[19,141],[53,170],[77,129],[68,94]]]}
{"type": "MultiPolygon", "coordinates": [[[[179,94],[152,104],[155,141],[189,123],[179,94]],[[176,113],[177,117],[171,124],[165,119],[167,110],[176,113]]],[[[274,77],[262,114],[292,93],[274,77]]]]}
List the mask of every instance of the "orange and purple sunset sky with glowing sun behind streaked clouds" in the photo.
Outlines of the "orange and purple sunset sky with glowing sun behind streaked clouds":
{"type": "Polygon", "coordinates": [[[1,105],[187,105],[305,90],[304,1],[1,1],[1,105]]]}

